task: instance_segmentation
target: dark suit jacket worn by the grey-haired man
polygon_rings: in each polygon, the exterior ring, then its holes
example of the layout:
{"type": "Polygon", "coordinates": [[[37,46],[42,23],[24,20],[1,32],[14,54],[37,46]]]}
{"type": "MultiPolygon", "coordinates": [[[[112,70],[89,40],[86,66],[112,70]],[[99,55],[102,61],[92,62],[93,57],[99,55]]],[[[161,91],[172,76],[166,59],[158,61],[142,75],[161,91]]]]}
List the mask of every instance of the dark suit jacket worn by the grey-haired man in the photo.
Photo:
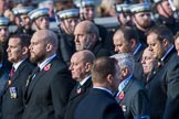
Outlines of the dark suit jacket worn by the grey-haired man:
{"type": "Polygon", "coordinates": [[[135,116],[150,116],[149,100],[144,85],[131,77],[120,91],[120,98],[116,97],[120,105],[125,119],[134,119],[135,116]]]}

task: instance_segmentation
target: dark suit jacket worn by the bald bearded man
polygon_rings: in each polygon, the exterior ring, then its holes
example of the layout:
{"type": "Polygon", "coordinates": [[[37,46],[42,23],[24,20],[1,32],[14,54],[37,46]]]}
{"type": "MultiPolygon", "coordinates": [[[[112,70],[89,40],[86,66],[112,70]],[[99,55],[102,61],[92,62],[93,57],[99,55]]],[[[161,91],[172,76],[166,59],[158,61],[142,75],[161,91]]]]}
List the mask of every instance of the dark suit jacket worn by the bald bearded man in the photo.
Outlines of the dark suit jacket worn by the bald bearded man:
{"type": "Polygon", "coordinates": [[[65,63],[54,57],[25,89],[22,119],[63,119],[73,86],[65,63]]]}

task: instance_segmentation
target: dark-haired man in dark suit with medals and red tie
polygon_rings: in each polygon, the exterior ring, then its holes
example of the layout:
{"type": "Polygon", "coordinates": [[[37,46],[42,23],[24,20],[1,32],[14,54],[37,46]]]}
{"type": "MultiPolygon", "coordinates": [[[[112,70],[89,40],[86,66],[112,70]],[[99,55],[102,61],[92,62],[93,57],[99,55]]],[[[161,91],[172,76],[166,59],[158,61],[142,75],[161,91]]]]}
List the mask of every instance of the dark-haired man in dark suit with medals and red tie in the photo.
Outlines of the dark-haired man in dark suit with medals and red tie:
{"type": "Polygon", "coordinates": [[[28,76],[33,69],[29,62],[30,36],[12,35],[8,43],[8,60],[13,63],[2,100],[2,119],[21,119],[24,110],[23,94],[28,76]]]}

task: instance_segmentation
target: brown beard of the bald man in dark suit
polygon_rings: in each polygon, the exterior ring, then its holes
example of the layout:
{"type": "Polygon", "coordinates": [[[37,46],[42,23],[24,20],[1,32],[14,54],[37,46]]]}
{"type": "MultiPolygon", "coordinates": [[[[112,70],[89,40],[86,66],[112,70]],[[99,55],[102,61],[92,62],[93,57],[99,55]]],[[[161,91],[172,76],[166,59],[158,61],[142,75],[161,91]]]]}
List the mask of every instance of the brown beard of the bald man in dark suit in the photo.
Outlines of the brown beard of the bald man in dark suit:
{"type": "Polygon", "coordinates": [[[42,63],[45,60],[45,54],[36,55],[35,53],[30,54],[30,61],[32,63],[42,63]]]}

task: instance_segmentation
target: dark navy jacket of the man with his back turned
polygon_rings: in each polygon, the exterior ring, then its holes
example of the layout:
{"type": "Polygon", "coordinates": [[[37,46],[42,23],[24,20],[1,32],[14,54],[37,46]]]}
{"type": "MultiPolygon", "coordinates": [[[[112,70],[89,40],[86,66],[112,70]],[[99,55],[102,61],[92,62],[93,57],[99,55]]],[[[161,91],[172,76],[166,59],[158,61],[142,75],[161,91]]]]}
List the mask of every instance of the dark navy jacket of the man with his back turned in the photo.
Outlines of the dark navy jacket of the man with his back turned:
{"type": "Polygon", "coordinates": [[[124,119],[124,115],[109,93],[92,88],[77,106],[75,119],[124,119]]]}

